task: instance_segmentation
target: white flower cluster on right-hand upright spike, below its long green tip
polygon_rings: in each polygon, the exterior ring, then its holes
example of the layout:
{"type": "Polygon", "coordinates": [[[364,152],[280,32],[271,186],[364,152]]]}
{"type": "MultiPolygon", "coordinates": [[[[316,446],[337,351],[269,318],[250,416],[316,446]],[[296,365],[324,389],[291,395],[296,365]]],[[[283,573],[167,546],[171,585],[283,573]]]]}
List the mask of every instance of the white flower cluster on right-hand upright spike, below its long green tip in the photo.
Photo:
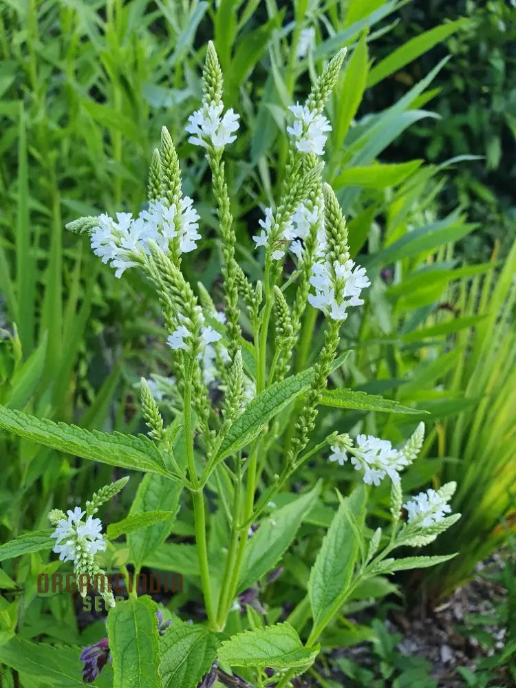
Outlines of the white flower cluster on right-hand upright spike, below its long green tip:
{"type": "Polygon", "coordinates": [[[345,320],[349,306],[362,305],[361,291],[371,283],[365,268],[357,266],[352,259],[343,264],[334,261],[314,263],[310,284],[315,294],[308,295],[308,301],[333,320],[345,320]]]}

